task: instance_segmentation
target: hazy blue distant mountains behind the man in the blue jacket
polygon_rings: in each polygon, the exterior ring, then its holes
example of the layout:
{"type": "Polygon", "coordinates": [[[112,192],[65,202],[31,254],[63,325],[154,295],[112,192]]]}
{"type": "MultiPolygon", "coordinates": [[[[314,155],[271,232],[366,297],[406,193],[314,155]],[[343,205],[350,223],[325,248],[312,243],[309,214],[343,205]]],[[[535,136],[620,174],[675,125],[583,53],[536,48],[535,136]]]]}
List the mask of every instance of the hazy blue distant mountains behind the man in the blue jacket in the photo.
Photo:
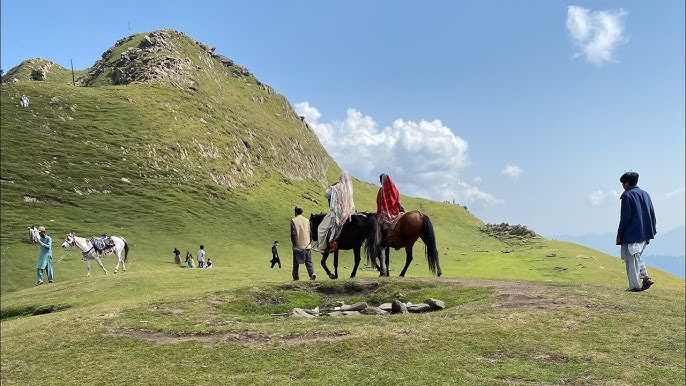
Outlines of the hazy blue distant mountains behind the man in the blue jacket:
{"type": "MultiPolygon", "coordinates": [[[[686,227],[680,226],[669,232],[658,234],[646,249],[644,260],[646,264],[662,269],[669,273],[684,277],[686,276],[686,227]]],[[[619,257],[619,247],[615,244],[614,233],[586,234],[581,236],[559,235],[553,237],[556,240],[570,241],[585,245],[611,256],[619,257]]]]}

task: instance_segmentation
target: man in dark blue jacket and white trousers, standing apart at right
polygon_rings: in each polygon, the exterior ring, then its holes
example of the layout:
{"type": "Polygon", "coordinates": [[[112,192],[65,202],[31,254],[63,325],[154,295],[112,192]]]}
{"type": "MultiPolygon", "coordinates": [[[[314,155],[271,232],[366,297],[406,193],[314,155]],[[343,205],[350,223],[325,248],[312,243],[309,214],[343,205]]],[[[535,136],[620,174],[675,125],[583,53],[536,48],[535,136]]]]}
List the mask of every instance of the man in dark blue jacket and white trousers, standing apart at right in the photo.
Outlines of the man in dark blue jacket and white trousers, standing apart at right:
{"type": "Polygon", "coordinates": [[[650,240],[655,238],[655,209],[648,192],[638,187],[638,173],[626,172],[619,178],[624,193],[622,200],[617,245],[621,246],[620,254],[626,263],[626,275],[629,279],[627,291],[640,292],[650,288],[655,282],[648,276],[641,254],[650,240]],[[639,283],[639,279],[643,282],[639,283]]]}

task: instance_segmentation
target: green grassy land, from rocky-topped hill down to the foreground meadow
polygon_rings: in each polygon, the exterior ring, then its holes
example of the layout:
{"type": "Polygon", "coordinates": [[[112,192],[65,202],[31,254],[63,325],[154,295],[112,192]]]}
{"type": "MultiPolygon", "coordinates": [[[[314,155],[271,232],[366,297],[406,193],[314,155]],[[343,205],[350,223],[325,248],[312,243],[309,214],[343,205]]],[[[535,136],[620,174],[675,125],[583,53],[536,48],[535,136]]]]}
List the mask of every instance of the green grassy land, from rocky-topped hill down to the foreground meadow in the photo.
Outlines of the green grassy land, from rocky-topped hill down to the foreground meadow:
{"type": "MultiPolygon", "coordinates": [[[[683,384],[683,279],[653,269],[650,291],[626,293],[617,258],[496,237],[462,206],[403,197],[434,224],[441,278],[420,243],[406,278],[402,250],[396,277],[337,281],[315,253],[317,282],[294,283],[293,206],[324,211],[340,168],[283,96],[176,31],[120,40],[76,86],[50,63],[22,63],[0,90],[3,384],[683,384]],[[34,287],[26,227],[40,224],[56,283],[34,287]],[[127,271],[86,278],[80,253],[59,247],[68,232],[125,237],[127,271]],[[200,244],[214,268],[172,263],[200,244]],[[428,297],[446,309],[280,316],[428,297]]],[[[378,187],[354,184],[357,209],[375,210],[378,187]]],[[[343,251],[342,277],[351,267],[343,251]]]]}

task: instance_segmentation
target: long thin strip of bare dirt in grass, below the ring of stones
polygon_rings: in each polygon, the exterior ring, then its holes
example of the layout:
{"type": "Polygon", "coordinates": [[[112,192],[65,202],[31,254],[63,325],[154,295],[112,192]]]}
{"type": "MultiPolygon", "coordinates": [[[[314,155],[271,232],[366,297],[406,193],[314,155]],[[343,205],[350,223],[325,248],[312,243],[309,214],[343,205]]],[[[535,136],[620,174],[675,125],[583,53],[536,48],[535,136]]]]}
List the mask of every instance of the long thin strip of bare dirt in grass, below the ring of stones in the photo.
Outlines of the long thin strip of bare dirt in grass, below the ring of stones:
{"type": "Polygon", "coordinates": [[[347,332],[302,332],[285,335],[267,335],[261,332],[253,331],[178,334],[150,330],[116,328],[109,328],[109,332],[115,336],[143,339],[158,344],[175,344],[197,341],[203,342],[206,346],[212,346],[217,343],[233,343],[262,347],[277,344],[299,345],[309,342],[332,342],[344,339],[349,335],[347,332]]]}

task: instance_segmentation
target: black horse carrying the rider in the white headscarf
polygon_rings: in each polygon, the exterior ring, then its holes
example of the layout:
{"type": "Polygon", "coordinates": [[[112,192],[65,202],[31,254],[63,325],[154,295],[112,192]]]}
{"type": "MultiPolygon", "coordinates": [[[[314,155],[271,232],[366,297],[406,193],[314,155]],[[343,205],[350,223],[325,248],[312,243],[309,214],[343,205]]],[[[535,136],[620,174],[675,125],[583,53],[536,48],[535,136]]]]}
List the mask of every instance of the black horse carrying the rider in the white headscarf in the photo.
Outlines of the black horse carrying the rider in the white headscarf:
{"type": "MultiPolygon", "coordinates": [[[[325,213],[310,215],[310,234],[312,240],[317,240],[317,228],[319,227],[319,224],[322,223],[324,216],[326,216],[325,213]]],[[[373,248],[375,234],[376,216],[373,213],[360,212],[350,216],[350,219],[343,225],[341,234],[336,241],[337,248],[333,252],[334,273],[331,273],[329,267],[326,266],[326,258],[329,256],[330,252],[327,251],[322,254],[322,267],[329,278],[338,279],[338,251],[340,249],[353,250],[353,253],[355,254],[355,267],[353,268],[350,277],[355,277],[357,268],[360,265],[360,260],[362,260],[360,255],[362,244],[365,244],[366,249],[373,248]]],[[[369,255],[370,252],[367,250],[366,253],[369,255]]]]}

